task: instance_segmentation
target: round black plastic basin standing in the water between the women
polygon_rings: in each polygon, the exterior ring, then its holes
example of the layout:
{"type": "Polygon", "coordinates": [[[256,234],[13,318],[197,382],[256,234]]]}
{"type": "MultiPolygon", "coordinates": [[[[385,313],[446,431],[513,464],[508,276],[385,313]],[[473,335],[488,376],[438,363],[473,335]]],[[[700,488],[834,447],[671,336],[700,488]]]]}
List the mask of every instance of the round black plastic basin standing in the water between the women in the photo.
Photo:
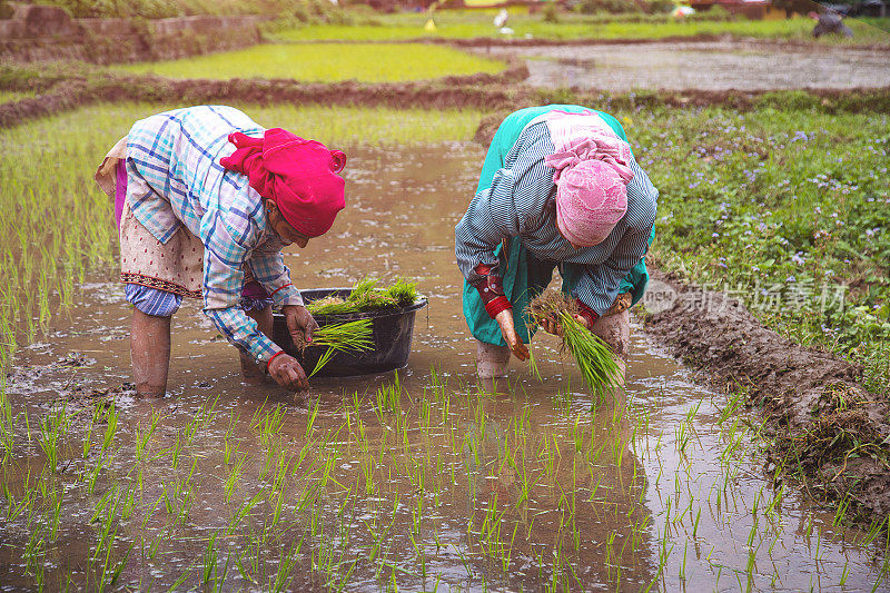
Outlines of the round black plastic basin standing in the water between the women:
{"type": "MultiPolygon", "coordinates": [[[[326,296],[346,297],[352,288],[317,288],[300,290],[306,303],[326,296]]],[[[320,327],[328,324],[354,322],[356,319],[372,319],[374,349],[359,353],[335,353],[330,360],[315,376],[350,377],[373,373],[387,373],[404,368],[411,355],[411,338],[414,334],[414,314],[426,307],[426,299],[421,298],[408,307],[396,309],[375,310],[369,313],[352,313],[346,315],[318,315],[315,320],[320,327]]],[[[318,358],[327,348],[308,346],[300,353],[290,339],[285,317],[275,314],[273,340],[287,354],[299,360],[308,375],[315,368],[318,358]]]]}

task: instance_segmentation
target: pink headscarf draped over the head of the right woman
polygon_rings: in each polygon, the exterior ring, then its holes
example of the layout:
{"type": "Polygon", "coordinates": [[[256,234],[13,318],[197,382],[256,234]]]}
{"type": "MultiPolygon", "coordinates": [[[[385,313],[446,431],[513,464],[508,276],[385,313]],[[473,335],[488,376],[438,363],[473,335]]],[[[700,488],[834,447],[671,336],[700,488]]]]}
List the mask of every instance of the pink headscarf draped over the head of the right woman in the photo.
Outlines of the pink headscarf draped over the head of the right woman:
{"type": "Polygon", "coordinates": [[[627,211],[631,147],[596,113],[554,111],[547,127],[556,148],[544,159],[556,169],[556,226],[573,245],[599,245],[627,211]]]}

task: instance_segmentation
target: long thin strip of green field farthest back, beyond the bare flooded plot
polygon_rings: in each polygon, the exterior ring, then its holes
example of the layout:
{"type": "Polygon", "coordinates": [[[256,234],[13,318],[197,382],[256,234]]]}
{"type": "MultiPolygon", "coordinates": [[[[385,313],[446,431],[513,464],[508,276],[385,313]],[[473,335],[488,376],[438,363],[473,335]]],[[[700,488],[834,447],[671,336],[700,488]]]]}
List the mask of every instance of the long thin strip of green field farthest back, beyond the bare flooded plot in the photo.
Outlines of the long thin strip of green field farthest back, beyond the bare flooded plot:
{"type": "MultiPolygon", "coordinates": [[[[431,14],[380,14],[372,24],[307,24],[296,29],[268,33],[278,41],[396,41],[407,39],[665,39],[678,37],[751,37],[778,40],[811,40],[813,21],[807,18],[751,21],[746,19],[711,21],[689,19],[674,21],[669,17],[639,19],[603,19],[582,14],[562,14],[550,22],[541,14],[513,13],[507,26],[513,34],[504,36],[492,24],[494,11],[444,11],[432,14],[434,30],[425,29],[431,14]]],[[[824,45],[890,43],[890,19],[850,19],[853,39],[823,38],[824,45]]]]}

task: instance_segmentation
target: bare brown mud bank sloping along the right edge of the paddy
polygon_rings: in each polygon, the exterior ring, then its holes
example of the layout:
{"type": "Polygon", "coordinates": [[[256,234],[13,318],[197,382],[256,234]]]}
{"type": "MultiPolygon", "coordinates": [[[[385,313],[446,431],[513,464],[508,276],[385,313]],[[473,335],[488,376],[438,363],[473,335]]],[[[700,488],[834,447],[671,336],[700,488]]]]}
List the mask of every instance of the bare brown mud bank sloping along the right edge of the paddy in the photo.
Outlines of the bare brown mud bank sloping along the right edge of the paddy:
{"type": "Polygon", "coordinates": [[[711,383],[758,404],[780,465],[803,468],[812,488],[849,498],[863,518],[890,514],[890,404],[863,389],[861,368],[783,338],[722,293],[653,278],[646,299],[657,313],[646,332],[711,383]]]}

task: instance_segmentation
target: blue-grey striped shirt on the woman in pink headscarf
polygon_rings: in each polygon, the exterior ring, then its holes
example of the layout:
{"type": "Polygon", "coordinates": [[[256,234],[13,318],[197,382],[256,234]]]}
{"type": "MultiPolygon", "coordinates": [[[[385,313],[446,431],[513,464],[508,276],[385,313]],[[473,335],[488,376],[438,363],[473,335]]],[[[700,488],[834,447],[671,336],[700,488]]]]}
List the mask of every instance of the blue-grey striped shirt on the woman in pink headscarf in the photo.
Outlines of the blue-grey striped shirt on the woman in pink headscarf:
{"type": "Polygon", "coordinates": [[[619,294],[622,279],[649,249],[659,192],[635,159],[627,184],[627,213],[609,237],[592,247],[575,249],[556,228],[556,185],[544,158],[554,154],[546,115],[533,119],[504,157],[488,188],[476,192],[455,227],[457,266],[471,284],[483,278],[479,264],[500,275],[495,248],[517,237],[541,260],[580,266],[573,296],[599,315],[619,294]]]}

